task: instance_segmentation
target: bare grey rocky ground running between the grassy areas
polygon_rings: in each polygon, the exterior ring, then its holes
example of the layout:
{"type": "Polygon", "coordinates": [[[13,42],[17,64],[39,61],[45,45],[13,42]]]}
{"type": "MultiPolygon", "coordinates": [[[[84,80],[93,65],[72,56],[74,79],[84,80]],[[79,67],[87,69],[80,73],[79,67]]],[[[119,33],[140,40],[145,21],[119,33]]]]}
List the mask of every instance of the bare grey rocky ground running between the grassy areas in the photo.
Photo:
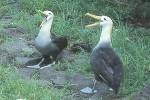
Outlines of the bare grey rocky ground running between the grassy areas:
{"type": "MultiPolygon", "coordinates": [[[[0,23],[10,24],[11,16],[3,16],[0,23]]],[[[65,71],[56,71],[53,67],[44,69],[30,69],[24,65],[32,58],[39,57],[32,41],[24,38],[25,29],[21,27],[1,28],[0,36],[2,38],[11,37],[11,42],[0,41],[0,61],[3,64],[13,63],[22,79],[37,81],[40,85],[52,85],[56,88],[63,88],[68,85],[70,94],[64,97],[64,100],[126,100],[125,97],[113,97],[105,84],[99,83],[95,94],[83,94],[80,89],[86,86],[91,87],[93,77],[82,75],[81,73],[65,73],[65,71]]],[[[62,58],[73,56],[73,53],[66,50],[62,58]]],[[[64,58],[63,58],[64,59],[64,58]]],[[[71,58],[72,59],[72,58],[71,58]]],[[[150,86],[147,85],[139,94],[135,95],[133,100],[150,100],[150,86]]]]}

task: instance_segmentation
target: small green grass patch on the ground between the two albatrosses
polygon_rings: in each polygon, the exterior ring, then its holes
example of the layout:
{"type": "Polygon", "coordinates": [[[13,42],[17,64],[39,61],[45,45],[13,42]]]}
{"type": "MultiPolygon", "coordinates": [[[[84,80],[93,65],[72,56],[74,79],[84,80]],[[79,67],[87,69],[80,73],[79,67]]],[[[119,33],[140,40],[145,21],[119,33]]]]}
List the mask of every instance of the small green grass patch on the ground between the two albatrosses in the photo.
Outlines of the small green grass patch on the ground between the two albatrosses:
{"type": "Polygon", "coordinates": [[[91,72],[89,54],[85,52],[77,53],[71,61],[64,61],[63,63],[60,62],[54,65],[54,68],[57,71],[64,70],[71,73],[80,72],[87,74],[88,72],[91,72]]]}

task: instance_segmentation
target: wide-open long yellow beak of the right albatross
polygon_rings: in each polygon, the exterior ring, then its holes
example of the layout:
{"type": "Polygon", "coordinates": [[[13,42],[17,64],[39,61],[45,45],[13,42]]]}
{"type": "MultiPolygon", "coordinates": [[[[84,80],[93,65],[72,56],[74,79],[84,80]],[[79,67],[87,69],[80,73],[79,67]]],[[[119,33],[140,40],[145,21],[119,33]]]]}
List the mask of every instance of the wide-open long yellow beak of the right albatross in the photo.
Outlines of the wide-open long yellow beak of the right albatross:
{"type": "Polygon", "coordinates": [[[91,18],[94,18],[94,19],[98,20],[98,22],[95,22],[95,23],[90,24],[90,25],[86,25],[85,27],[89,28],[89,27],[94,27],[94,26],[99,25],[99,21],[101,20],[101,16],[96,16],[96,15],[93,15],[93,14],[90,14],[90,13],[86,13],[85,16],[89,16],[91,18]]]}

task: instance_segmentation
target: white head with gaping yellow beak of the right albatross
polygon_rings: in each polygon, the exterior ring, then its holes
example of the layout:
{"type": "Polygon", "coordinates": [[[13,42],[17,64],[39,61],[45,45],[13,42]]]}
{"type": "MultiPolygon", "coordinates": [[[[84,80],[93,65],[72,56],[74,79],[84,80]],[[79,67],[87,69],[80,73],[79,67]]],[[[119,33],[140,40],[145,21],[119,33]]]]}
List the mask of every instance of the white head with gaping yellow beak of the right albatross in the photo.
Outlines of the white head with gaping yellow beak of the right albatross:
{"type": "Polygon", "coordinates": [[[90,13],[86,13],[85,15],[98,20],[98,22],[95,22],[94,24],[86,25],[86,27],[93,27],[93,26],[96,26],[96,25],[99,25],[99,24],[102,27],[113,25],[113,22],[112,22],[111,18],[109,18],[108,16],[96,16],[96,15],[93,15],[93,14],[90,14],[90,13]]]}

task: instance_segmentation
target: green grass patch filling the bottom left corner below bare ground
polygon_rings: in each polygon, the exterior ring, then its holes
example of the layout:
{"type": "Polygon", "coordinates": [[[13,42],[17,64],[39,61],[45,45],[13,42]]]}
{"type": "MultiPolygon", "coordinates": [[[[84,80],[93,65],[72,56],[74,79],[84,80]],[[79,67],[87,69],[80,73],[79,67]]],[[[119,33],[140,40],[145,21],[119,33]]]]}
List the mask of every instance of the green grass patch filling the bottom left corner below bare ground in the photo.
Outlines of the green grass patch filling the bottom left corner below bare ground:
{"type": "Polygon", "coordinates": [[[22,80],[12,67],[0,65],[0,100],[61,100],[67,93],[65,89],[42,87],[37,82],[22,80]]]}

